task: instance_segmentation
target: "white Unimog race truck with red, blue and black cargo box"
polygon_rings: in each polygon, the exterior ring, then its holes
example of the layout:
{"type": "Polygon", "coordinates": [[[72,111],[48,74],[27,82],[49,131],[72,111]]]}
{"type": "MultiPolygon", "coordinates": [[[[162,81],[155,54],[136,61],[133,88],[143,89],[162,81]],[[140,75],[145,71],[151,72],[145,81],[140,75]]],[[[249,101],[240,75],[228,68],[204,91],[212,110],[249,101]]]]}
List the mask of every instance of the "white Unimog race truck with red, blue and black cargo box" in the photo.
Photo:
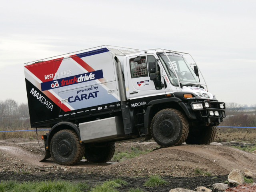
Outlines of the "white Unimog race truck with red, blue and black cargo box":
{"type": "Polygon", "coordinates": [[[226,116],[184,52],[99,46],[26,63],[24,72],[31,127],[50,128],[44,159],[62,165],[108,162],[115,142],[138,138],[209,144],[226,116]]]}

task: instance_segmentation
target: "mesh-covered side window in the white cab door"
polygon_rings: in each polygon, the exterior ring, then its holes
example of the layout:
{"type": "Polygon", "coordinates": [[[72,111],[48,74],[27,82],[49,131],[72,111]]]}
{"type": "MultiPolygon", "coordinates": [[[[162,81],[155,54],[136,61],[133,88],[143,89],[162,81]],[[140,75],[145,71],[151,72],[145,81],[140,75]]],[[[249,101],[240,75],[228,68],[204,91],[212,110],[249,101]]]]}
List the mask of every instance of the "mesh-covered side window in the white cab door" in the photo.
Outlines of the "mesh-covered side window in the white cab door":
{"type": "Polygon", "coordinates": [[[148,77],[148,67],[146,57],[143,56],[137,62],[133,62],[135,58],[130,59],[130,69],[132,78],[148,77]]]}

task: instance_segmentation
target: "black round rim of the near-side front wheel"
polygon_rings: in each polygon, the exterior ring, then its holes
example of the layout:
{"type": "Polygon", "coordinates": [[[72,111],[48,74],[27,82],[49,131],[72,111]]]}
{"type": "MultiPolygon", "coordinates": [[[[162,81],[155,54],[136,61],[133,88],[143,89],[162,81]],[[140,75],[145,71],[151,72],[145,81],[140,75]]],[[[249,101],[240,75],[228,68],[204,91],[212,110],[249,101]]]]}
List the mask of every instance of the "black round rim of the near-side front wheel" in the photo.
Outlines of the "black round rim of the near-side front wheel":
{"type": "Polygon", "coordinates": [[[164,119],[158,126],[159,132],[164,138],[172,138],[176,132],[175,123],[171,119],[164,119]]]}

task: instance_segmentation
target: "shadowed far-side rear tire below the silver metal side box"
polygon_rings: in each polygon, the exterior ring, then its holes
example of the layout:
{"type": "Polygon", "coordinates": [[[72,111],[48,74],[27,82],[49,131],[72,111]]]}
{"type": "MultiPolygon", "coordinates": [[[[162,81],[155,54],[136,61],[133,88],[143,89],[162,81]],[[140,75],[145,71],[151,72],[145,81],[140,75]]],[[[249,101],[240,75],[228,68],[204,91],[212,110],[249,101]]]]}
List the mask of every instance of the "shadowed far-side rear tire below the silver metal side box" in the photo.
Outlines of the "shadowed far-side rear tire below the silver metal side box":
{"type": "Polygon", "coordinates": [[[115,143],[85,144],[84,157],[93,163],[106,163],[112,159],[115,150],[115,143]]]}

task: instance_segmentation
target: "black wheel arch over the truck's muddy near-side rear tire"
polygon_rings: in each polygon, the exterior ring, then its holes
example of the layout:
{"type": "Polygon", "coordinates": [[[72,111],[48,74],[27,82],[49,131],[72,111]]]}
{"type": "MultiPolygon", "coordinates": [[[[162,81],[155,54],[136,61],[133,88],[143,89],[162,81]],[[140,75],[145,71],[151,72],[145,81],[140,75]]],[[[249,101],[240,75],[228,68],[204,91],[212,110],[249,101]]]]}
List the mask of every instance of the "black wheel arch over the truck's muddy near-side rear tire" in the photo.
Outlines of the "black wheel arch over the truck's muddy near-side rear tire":
{"type": "Polygon", "coordinates": [[[81,140],[80,130],[79,130],[78,126],[76,126],[75,124],[73,124],[71,122],[59,122],[59,123],[55,124],[50,129],[50,131],[48,133],[48,136],[47,136],[47,139],[46,139],[46,150],[50,150],[49,146],[50,146],[50,142],[51,142],[52,137],[54,136],[54,134],[56,134],[58,131],[64,130],[64,129],[69,129],[69,130],[76,131],[76,134],[78,135],[79,141],[81,140]]]}

